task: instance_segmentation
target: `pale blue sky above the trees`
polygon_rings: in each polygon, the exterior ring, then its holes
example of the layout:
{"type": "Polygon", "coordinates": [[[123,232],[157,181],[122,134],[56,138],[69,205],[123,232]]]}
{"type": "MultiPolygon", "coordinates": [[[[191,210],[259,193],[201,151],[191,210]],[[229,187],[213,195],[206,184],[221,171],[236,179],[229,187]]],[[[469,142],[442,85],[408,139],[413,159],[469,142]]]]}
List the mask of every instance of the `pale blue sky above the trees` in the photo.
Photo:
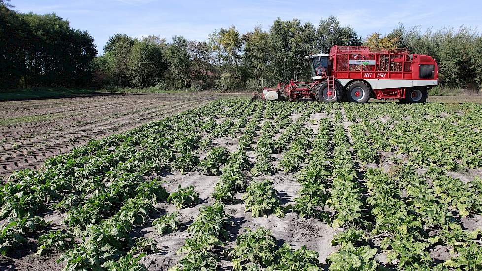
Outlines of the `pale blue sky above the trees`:
{"type": "Polygon", "coordinates": [[[11,4],[20,12],[55,12],[71,27],[87,30],[99,54],[114,34],[206,40],[213,30],[231,25],[241,33],[258,25],[268,30],[277,17],[317,26],[321,18],[335,15],[363,38],[375,31],[389,32],[399,22],[422,29],[466,25],[482,30],[480,0],[11,0],[11,4]]]}

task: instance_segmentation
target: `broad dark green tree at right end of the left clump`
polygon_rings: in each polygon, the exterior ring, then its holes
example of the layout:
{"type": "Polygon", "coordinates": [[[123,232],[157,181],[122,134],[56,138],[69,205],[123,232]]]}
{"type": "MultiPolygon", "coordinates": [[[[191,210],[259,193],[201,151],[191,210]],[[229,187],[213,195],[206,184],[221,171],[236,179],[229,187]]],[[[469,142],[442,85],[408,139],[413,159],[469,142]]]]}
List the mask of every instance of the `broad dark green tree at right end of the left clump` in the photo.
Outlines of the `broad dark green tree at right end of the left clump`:
{"type": "Polygon", "coordinates": [[[85,85],[97,50],[86,32],[70,28],[69,21],[52,14],[23,14],[33,41],[26,58],[30,85],[85,85]]]}

